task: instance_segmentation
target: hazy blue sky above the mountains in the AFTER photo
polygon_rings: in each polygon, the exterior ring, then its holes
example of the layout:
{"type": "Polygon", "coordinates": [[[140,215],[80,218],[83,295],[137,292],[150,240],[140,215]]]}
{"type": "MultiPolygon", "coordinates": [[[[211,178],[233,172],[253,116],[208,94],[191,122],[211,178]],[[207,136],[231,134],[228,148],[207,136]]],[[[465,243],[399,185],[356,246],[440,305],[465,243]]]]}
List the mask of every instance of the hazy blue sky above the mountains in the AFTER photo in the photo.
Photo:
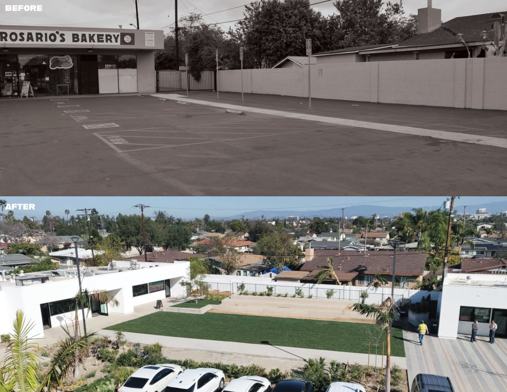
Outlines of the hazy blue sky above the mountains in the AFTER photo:
{"type": "MultiPolygon", "coordinates": [[[[152,208],[146,210],[151,216],[154,211],[163,210],[180,218],[202,217],[205,214],[216,217],[231,216],[241,212],[270,209],[276,210],[325,210],[334,207],[370,204],[387,207],[439,206],[447,197],[2,197],[8,203],[32,203],[35,210],[17,211],[15,216],[22,218],[35,216],[41,219],[50,210],[52,215],[64,216],[65,209],[70,214],[78,214],[77,209],[95,208],[100,214],[134,214],[139,209],[135,204],[145,204],[152,208]]],[[[507,201],[507,197],[461,197],[455,206],[486,204],[507,201]]]]}

